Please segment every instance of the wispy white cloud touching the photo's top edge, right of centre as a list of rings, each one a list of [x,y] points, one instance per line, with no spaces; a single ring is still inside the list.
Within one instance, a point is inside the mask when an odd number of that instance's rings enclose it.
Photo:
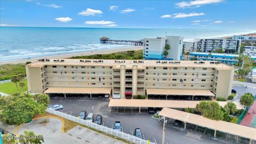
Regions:
[[[200,7],[201,5],[220,3],[222,1],[223,0],[195,0],[195,1],[189,1],[189,2],[183,1],[180,3],[175,3],[175,5],[180,8]]]

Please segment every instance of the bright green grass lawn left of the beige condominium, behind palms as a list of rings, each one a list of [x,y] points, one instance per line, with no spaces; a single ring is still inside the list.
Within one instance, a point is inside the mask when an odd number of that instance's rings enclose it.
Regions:
[[[24,91],[27,91],[28,90],[27,79],[23,79],[22,82],[25,83]],[[19,83],[17,84],[18,84],[19,92],[22,92],[21,88],[19,87]],[[9,82],[9,83],[0,84],[0,92],[6,93],[6,94],[12,94],[14,92],[17,92],[15,83]]]

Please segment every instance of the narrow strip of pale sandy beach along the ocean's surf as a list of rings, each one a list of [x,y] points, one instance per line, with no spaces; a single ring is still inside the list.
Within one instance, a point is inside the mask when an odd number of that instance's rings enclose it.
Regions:
[[[26,63],[27,61],[35,62],[38,59],[63,59],[63,58],[71,58],[71,57],[84,56],[84,55],[93,55],[93,54],[109,54],[109,53],[122,52],[122,51],[137,51],[137,50],[142,50],[142,49],[143,49],[143,46],[131,46],[131,47],[126,46],[126,47],[120,48],[120,49],[107,49],[107,50],[98,50],[98,51],[93,50],[93,51],[87,51],[87,52],[61,54],[61,55],[51,55],[51,56],[31,58],[31,59],[1,61],[0,65]]]

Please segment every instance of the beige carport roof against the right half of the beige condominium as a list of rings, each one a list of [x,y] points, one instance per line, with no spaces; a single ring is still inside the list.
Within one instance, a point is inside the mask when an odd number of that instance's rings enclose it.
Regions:
[[[147,94],[215,96],[209,90],[146,89]]]

